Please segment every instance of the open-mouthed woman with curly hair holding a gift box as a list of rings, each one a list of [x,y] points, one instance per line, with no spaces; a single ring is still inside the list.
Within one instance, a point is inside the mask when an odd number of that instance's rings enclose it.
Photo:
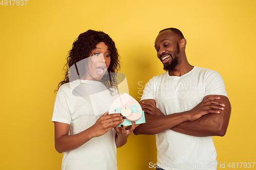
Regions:
[[[125,117],[108,114],[118,98],[119,55],[108,34],[88,30],[74,41],[59,83],[52,122],[62,169],[117,169],[116,148],[135,129],[117,128]],[[103,115],[102,115],[103,114]]]

